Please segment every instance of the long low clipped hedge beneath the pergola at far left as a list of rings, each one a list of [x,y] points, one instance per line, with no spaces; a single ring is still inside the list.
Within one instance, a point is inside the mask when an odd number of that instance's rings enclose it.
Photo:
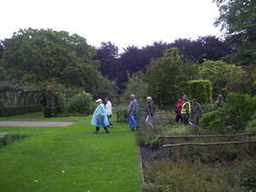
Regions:
[[[17,116],[26,113],[34,113],[43,111],[44,107],[42,104],[29,104],[11,107],[0,107],[0,117],[4,116]]]

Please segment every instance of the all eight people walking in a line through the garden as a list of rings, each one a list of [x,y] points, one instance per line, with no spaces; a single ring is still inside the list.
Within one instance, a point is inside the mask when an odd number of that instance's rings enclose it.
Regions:
[[[102,99],[97,99],[96,103],[98,104],[90,124],[96,126],[96,131],[94,133],[98,133],[100,130],[100,127],[103,127],[106,131],[106,133],[109,133],[108,127],[113,127],[113,123],[109,120],[110,117],[112,117],[112,104],[108,97],[105,98],[106,106],[102,104]],[[215,102],[218,106],[223,106],[224,104],[224,98],[220,94],[218,95],[218,100]],[[148,123],[149,127],[153,128],[152,119],[154,116],[154,101],[151,97],[147,97],[146,102],[146,123]],[[187,95],[183,95],[183,97],[178,98],[178,102],[176,105],[176,124],[178,124],[179,121],[182,122],[184,126],[187,124],[190,124],[194,127],[197,127],[199,125],[199,117],[203,114],[203,110],[201,108],[201,104],[197,102],[196,99],[193,99],[193,103],[190,103],[189,97]],[[189,121],[189,117],[194,117],[194,122]],[[131,131],[134,131],[138,128],[137,125],[137,99],[135,99],[135,95],[131,94],[131,102],[129,105],[129,123],[130,123],[130,129]]]

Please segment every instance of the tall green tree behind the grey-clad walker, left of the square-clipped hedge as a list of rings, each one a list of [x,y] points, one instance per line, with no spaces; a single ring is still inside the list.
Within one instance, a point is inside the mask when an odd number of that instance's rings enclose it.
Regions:
[[[145,78],[148,94],[160,107],[172,106],[183,92],[184,83],[189,80],[183,75],[183,56],[177,48],[164,51],[164,56],[151,59]]]

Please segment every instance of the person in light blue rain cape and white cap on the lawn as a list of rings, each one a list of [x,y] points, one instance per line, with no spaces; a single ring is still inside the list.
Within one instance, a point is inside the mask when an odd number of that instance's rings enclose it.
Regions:
[[[108,132],[109,123],[108,123],[108,116],[105,110],[105,105],[102,104],[102,99],[97,99],[96,103],[99,105],[94,111],[90,124],[96,126],[96,131],[94,133],[98,133],[98,131],[100,131],[100,127],[103,127],[106,133],[109,133]]]

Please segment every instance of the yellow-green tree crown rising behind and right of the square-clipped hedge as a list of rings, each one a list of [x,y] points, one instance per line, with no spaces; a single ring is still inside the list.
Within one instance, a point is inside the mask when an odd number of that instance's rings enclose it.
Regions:
[[[199,74],[201,79],[212,82],[212,93],[215,98],[220,93],[224,94],[227,83],[241,82],[245,71],[241,66],[228,65],[224,61],[205,60],[200,66]]]

